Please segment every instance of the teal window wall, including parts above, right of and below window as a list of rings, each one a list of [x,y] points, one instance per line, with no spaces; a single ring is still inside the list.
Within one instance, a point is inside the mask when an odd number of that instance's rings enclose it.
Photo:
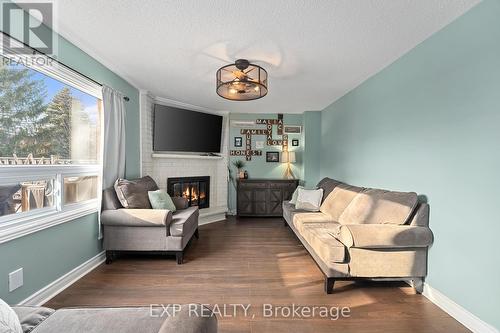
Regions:
[[[139,165],[139,91],[105,66],[58,38],[58,60],[90,78],[121,91],[126,102],[126,176],[136,177]],[[96,214],[0,244],[0,298],[17,303],[102,251]],[[8,273],[24,268],[24,286],[8,292]]]

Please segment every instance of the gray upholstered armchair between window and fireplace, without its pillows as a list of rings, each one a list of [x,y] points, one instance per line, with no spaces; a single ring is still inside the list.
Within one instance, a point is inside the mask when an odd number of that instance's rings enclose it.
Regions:
[[[176,212],[165,209],[123,208],[114,188],[103,191],[101,223],[106,263],[118,252],[146,251],[175,254],[182,264],[184,249],[199,237],[198,207],[187,207],[184,198],[172,198]]]

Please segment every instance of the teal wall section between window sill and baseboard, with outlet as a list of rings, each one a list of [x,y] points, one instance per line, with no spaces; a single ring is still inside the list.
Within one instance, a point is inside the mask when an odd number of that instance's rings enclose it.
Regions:
[[[16,304],[101,252],[97,214],[0,245],[0,298]],[[24,285],[9,293],[8,274],[20,267]]]

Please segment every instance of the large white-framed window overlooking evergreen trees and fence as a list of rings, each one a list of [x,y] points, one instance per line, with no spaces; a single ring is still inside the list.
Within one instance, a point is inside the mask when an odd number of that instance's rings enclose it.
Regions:
[[[101,87],[23,57],[0,58],[0,242],[99,209]]]

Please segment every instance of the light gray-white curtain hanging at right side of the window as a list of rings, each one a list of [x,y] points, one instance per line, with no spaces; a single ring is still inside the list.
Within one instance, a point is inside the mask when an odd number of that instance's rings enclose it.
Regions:
[[[102,87],[104,109],[104,157],[102,186],[113,186],[125,176],[125,103],[123,94]]]

